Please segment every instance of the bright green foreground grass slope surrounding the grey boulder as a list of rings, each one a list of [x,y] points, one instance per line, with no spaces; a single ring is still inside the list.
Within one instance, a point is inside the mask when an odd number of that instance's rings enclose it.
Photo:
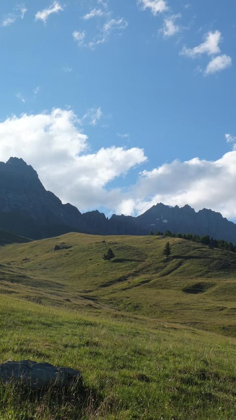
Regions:
[[[47,395],[20,395],[13,403],[12,390],[0,388],[2,419],[235,418],[232,338],[124,314],[94,318],[31,302],[23,309],[8,297],[0,319],[1,361],[71,366],[82,372],[87,396],[54,404]]]

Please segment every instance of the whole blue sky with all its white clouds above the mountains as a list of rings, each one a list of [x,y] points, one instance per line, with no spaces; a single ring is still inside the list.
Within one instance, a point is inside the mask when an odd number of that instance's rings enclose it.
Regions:
[[[80,211],[236,221],[236,3],[0,2],[0,161]]]

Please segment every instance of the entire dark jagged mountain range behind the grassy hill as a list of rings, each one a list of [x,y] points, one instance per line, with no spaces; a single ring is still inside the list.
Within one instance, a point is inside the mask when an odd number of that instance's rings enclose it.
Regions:
[[[0,229],[32,239],[57,236],[70,231],[102,235],[146,235],[152,230],[210,235],[236,244],[236,225],[220,213],[195,212],[162,203],[138,217],[99,211],[82,214],[71,204],[46,191],[37,172],[22,159],[0,162]]]

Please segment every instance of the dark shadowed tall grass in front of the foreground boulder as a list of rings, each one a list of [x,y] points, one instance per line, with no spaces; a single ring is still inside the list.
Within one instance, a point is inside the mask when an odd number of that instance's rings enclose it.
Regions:
[[[0,419],[92,419],[101,413],[104,403],[100,392],[76,381],[69,387],[53,384],[36,391],[20,381],[0,382]]]

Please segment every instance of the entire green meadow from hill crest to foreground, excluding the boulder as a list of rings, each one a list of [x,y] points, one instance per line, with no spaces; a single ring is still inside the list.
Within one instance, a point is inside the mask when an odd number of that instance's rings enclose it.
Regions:
[[[236,418],[236,254],[163,236],[20,242],[0,247],[0,361],[70,366],[85,392],[1,385],[0,419]]]

